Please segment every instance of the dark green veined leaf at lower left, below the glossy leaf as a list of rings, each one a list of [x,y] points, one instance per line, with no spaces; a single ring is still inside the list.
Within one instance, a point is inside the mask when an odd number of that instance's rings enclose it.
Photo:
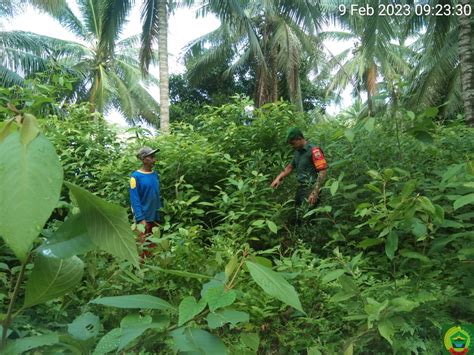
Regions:
[[[81,281],[84,263],[77,256],[69,259],[38,254],[25,290],[25,307],[60,297]]]

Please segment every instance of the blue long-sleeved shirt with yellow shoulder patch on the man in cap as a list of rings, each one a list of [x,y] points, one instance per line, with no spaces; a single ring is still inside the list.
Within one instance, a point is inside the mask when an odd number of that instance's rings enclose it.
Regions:
[[[156,171],[144,173],[134,171],[130,176],[130,203],[135,221],[153,222],[160,220],[160,178]]]

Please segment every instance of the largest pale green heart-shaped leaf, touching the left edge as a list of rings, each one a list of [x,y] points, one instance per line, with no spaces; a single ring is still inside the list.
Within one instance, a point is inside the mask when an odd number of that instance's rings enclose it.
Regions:
[[[19,132],[6,137],[0,144],[0,181],[0,235],[25,262],[61,192],[63,171],[51,142],[40,134],[25,147]]]

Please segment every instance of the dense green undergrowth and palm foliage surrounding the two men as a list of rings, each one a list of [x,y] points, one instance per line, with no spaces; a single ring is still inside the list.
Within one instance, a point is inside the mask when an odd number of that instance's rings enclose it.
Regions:
[[[146,2],[148,10],[157,3]],[[187,72],[171,77],[170,130],[155,136],[141,127],[119,131],[98,104],[133,106],[131,122],[159,121],[157,110],[146,111],[154,105],[146,95],[132,105],[119,98],[120,85],[107,86],[124,75],[131,97],[141,85],[139,50],[121,50],[118,36],[131,2],[81,3],[81,21],[57,4],[56,18],[88,31],[94,50],[0,34],[2,354],[434,354],[445,324],[472,322],[465,18],[373,22],[336,16],[331,1],[209,1],[203,11],[222,22],[209,42],[216,47],[194,47]],[[21,11],[1,6],[3,14]],[[347,32],[318,32],[328,18]],[[447,26],[440,38],[434,20]],[[235,61],[239,46],[220,41],[230,37],[213,37],[225,28],[247,46],[245,60]],[[407,45],[410,32],[402,30],[420,28],[426,32]],[[301,41],[295,61],[285,61],[293,44],[279,42],[282,31]],[[324,36],[357,38],[353,56],[326,62],[319,44],[303,51],[304,41]],[[446,61],[420,58],[425,49]],[[151,45],[147,51],[154,55]],[[210,59],[213,70],[198,69]],[[226,71],[233,75],[222,78]],[[352,107],[326,114],[333,89],[346,81],[370,95],[357,93]],[[102,84],[110,96],[97,96]],[[265,100],[250,99],[255,92]],[[294,208],[294,176],[270,188],[291,159],[290,126],[320,145],[329,163],[315,207]],[[129,208],[128,177],[144,145],[160,148],[164,208],[152,256],[140,260],[147,245],[135,242],[141,227]]]

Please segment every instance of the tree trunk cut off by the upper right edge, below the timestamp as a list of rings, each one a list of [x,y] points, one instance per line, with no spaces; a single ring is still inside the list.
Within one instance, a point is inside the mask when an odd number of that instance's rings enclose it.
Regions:
[[[471,5],[471,0],[461,0],[462,5]],[[467,15],[459,16],[459,61],[461,63],[461,86],[466,124],[474,126],[474,31]]]

